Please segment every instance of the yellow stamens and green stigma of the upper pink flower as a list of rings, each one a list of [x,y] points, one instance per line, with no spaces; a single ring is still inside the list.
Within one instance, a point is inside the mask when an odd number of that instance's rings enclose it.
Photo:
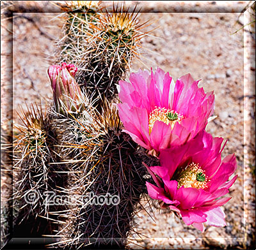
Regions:
[[[156,107],[149,115],[149,119],[148,119],[149,135],[152,132],[154,123],[156,121],[164,122],[165,124],[172,126],[172,129],[173,129],[175,122],[180,123],[182,119],[184,119],[183,115],[180,115],[179,113],[173,110]]]

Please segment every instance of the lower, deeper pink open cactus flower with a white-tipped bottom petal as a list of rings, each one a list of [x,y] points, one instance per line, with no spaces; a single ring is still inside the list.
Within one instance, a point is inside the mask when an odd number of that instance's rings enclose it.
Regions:
[[[225,226],[220,206],[237,175],[229,180],[237,167],[234,154],[221,161],[223,138],[200,132],[189,143],[160,152],[161,166],[148,167],[157,186],[147,182],[148,195],[163,207],[177,212],[187,225],[204,232],[204,224]]]

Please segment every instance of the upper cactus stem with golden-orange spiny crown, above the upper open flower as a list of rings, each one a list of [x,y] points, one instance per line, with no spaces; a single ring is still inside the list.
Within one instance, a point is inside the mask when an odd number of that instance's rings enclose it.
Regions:
[[[131,68],[134,55],[138,55],[140,39],[145,35],[140,32],[138,13],[123,5],[113,8],[111,13],[100,13],[98,32],[88,40],[88,59],[78,67],[78,81],[86,87],[89,96],[99,96],[97,105],[102,99],[115,98],[116,84],[125,77],[125,72]]]

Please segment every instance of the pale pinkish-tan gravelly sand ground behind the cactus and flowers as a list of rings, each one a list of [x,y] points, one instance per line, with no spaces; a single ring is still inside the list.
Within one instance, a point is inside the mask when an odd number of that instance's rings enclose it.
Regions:
[[[2,6],[8,2],[3,1]],[[47,11],[51,4],[46,2],[31,1],[20,4],[23,4],[24,10],[39,6]],[[156,69],[159,66],[168,71],[174,80],[191,73],[193,78],[202,79],[200,86],[204,87],[205,91],[214,91],[214,115],[217,115],[217,118],[207,125],[207,131],[213,136],[228,139],[223,156],[236,154],[238,178],[228,194],[232,199],[223,206],[227,221],[225,228],[207,227],[202,234],[195,228],[186,226],[172,214],[160,213],[158,210],[153,213],[149,210],[153,220],[145,211],[141,211],[136,217],[138,228],[135,230],[144,233],[147,238],[137,239],[136,234],[132,235],[129,244],[131,248],[246,249],[255,242],[255,174],[252,174],[252,168],[255,169],[255,62],[251,62],[253,57],[255,59],[255,40],[253,34],[248,31],[241,30],[232,34],[241,27],[241,24],[237,23],[239,11],[248,3],[249,1],[158,1],[157,7],[152,1],[138,3],[145,11],[157,12],[159,8],[163,13],[141,13],[141,22],[152,20],[152,24],[145,31],[154,31],[143,38],[143,57],[134,59],[132,71],[139,68]],[[134,4],[134,1],[130,4]],[[184,10],[191,10],[191,13],[181,13]],[[198,10],[202,10],[202,13],[196,13]],[[223,10],[229,10],[230,13],[221,13]],[[13,40],[12,36],[8,36],[12,29],[10,22],[1,22],[1,27],[4,27],[1,31],[3,128],[8,128],[11,112],[14,123],[20,122],[17,113],[20,113],[20,107],[25,107],[25,103],[29,105],[40,99],[47,103],[52,98],[47,77],[50,64],[46,58],[54,60],[51,55],[56,50],[54,40],[60,34],[60,28],[56,24],[59,24],[60,20],[51,19],[58,13],[26,12],[17,13],[13,17]],[[242,15],[240,22],[246,22],[244,18],[248,20],[250,15]],[[13,50],[6,46],[12,41]],[[10,77],[11,54],[13,79]],[[7,63],[4,63],[4,60]],[[10,84],[11,79],[13,85]],[[10,105],[12,90],[13,110]],[[6,182],[6,175],[1,174],[1,180],[2,183]]]

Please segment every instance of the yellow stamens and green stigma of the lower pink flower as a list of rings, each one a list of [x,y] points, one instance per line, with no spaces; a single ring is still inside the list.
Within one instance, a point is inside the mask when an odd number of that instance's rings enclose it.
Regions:
[[[197,189],[204,189],[207,187],[207,183],[210,181],[205,176],[205,171],[200,168],[198,164],[191,163],[186,166],[180,174],[178,180],[178,188],[184,187],[195,187]]]

